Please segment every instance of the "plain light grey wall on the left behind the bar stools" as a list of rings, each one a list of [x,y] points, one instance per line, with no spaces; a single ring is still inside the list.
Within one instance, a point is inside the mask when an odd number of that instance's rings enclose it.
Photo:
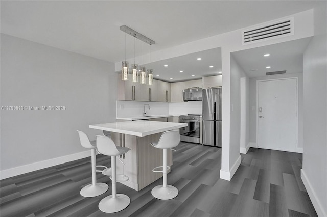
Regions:
[[[1,110],[1,178],[87,156],[76,130],[115,120],[114,64],[4,34],[1,58],[1,106],[66,107]]]

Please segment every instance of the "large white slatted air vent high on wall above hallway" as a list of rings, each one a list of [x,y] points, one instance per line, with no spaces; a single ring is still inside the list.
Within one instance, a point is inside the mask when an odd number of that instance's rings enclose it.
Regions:
[[[242,45],[294,35],[294,19],[289,17],[242,31]]]

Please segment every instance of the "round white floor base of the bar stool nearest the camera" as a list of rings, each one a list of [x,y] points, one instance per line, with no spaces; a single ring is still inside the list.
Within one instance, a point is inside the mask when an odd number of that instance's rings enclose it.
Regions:
[[[131,202],[127,195],[117,194],[113,199],[112,195],[103,198],[99,203],[99,209],[106,213],[119,212],[125,209]]]

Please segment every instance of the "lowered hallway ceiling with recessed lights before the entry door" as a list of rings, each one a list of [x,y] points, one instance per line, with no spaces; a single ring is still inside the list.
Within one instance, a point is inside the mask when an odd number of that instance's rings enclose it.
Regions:
[[[233,52],[238,64],[248,77],[266,76],[266,72],[286,70],[286,73],[302,73],[303,52],[308,46],[310,38],[303,38],[263,47]],[[270,56],[264,57],[269,53]],[[266,68],[270,66],[271,68]]]

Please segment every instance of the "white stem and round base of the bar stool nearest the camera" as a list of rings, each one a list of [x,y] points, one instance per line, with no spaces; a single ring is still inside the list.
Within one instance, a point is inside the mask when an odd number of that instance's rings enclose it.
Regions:
[[[103,198],[99,203],[99,209],[106,213],[122,211],[131,202],[127,195],[117,194],[116,156],[111,156],[111,169],[112,195]]]

